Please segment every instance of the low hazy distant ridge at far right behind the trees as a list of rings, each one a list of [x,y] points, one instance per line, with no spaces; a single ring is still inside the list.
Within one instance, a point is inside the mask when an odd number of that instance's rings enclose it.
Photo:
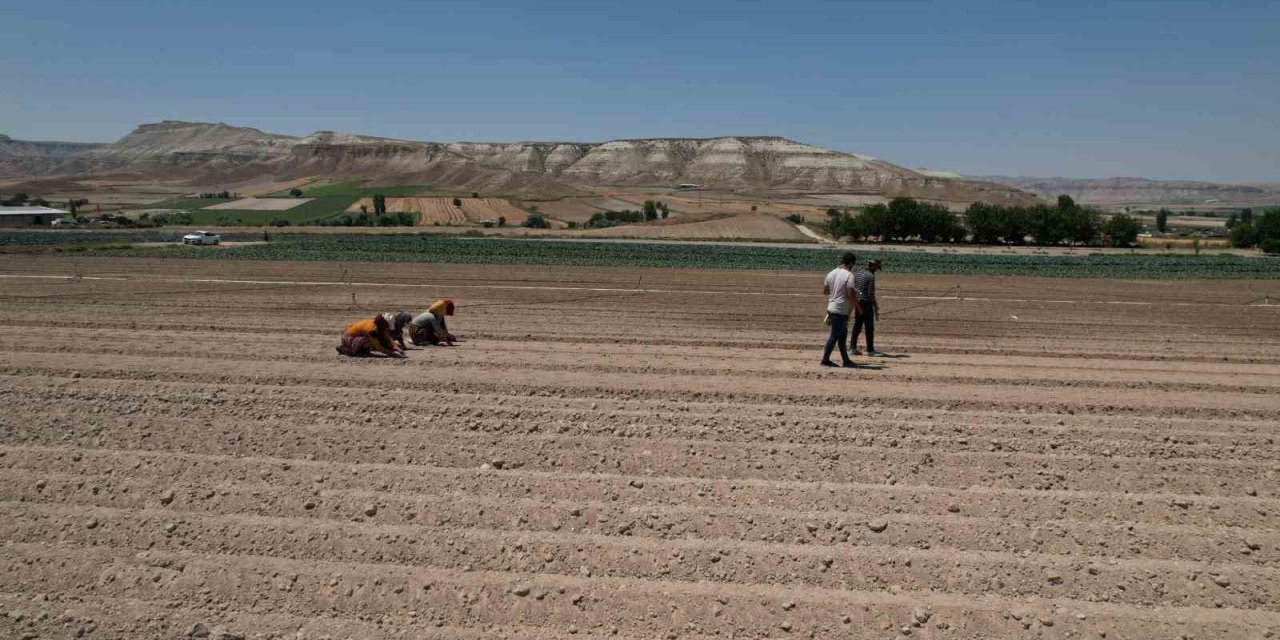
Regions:
[[[1147,178],[974,178],[1029,191],[1052,200],[1066,193],[1076,202],[1098,206],[1265,206],[1280,205],[1280,183],[1220,184]]]

